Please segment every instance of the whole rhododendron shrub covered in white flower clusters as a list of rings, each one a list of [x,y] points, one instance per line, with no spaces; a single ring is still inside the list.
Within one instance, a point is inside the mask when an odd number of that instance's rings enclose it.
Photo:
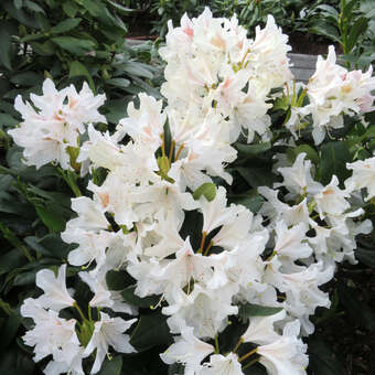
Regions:
[[[322,287],[372,232],[374,157],[358,139],[372,135],[375,78],[330,47],[296,84],[290,50],[272,17],[249,40],[206,9],[169,24],[164,100],[140,94],[113,132],[96,130],[105,97],[87,85],[46,79],[15,99],[24,162],[58,164],[76,193],[68,267],[40,270],[43,293],[21,307],[45,374],[96,374],[106,356],[153,346],[171,374],[307,374],[312,317],[331,306]]]

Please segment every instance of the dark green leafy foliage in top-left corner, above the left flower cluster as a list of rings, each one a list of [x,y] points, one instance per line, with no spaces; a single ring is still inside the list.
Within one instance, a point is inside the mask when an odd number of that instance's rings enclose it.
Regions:
[[[7,0],[0,9],[1,128],[18,124],[15,96],[40,93],[45,77],[58,87],[87,81],[95,93],[106,93],[110,124],[139,92],[159,95],[151,49],[125,44],[122,19],[131,9],[108,0]]]

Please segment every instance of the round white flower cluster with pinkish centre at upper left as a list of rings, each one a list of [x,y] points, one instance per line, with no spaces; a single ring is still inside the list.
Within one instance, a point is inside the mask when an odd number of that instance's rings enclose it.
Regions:
[[[45,79],[43,95],[31,94],[30,98],[33,105],[24,104],[20,95],[15,98],[14,108],[23,122],[9,131],[15,143],[24,148],[25,164],[40,168],[57,162],[63,169],[72,169],[69,149],[79,147],[85,125],[107,122],[97,110],[105,95],[94,96],[86,83],[79,93],[73,85],[57,92],[53,82]]]

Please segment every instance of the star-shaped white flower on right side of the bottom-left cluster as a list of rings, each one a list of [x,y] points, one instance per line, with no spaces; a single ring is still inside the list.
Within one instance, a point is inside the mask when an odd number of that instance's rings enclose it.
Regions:
[[[94,333],[84,353],[85,356],[88,356],[96,350],[92,374],[96,374],[100,369],[109,346],[120,353],[136,352],[129,343],[129,335],[124,334],[136,321],[137,319],[126,321],[121,318],[110,318],[100,312],[100,321],[94,324]]]

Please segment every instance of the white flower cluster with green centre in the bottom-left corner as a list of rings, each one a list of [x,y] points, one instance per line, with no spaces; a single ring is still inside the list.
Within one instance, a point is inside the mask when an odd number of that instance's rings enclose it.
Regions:
[[[92,373],[95,374],[100,369],[109,345],[120,353],[135,352],[135,349],[129,344],[129,336],[124,332],[136,322],[136,319],[125,321],[118,317],[110,318],[105,312],[99,312],[99,320],[96,322],[90,314],[89,319],[86,319],[66,289],[65,274],[66,265],[58,269],[57,277],[49,269],[38,272],[36,286],[44,293],[38,299],[25,299],[21,307],[21,314],[32,318],[35,323],[23,340],[26,345],[34,346],[35,362],[52,355],[53,360],[44,368],[46,375],[65,373],[84,375],[82,361],[96,350],[92,369]],[[85,277],[83,279],[85,280]],[[106,307],[100,302],[95,306]],[[90,301],[88,309],[93,306]],[[69,307],[78,309],[83,321],[60,318],[61,310]],[[76,330],[77,324],[79,325],[78,330]]]

